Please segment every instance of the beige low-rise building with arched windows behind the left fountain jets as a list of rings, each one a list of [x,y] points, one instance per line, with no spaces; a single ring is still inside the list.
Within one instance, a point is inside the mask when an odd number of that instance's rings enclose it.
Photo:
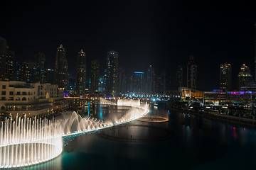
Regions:
[[[1,113],[10,116],[47,116],[55,110],[55,101],[64,103],[63,90],[55,84],[28,84],[24,81],[0,81]],[[58,105],[58,104],[56,104]],[[63,108],[63,107],[61,107]]]

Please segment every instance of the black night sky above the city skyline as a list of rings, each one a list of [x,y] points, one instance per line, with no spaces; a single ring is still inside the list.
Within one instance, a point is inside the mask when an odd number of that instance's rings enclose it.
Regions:
[[[219,88],[221,63],[232,64],[234,84],[242,63],[252,73],[255,6],[234,1],[18,1],[0,10],[0,36],[6,38],[16,60],[46,55],[54,68],[55,52],[65,47],[68,69],[83,49],[87,62],[99,59],[105,67],[107,51],[119,52],[119,67],[127,75],[152,64],[159,74],[186,72],[189,55],[198,64],[198,89]],[[89,64],[88,64],[89,65]]]

